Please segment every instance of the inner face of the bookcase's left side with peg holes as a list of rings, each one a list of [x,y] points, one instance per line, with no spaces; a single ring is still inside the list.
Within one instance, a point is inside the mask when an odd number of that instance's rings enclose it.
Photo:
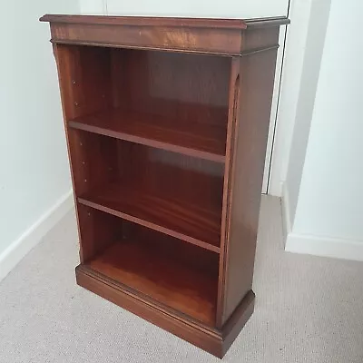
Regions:
[[[81,81],[81,77],[79,77],[77,84],[74,78],[76,68],[80,67],[80,64],[76,64],[79,51],[77,47],[62,44],[53,44],[53,49],[57,64],[64,113],[64,131],[74,190],[74,205],[80,238],[80,260],[83,262],[92,258],[99,250],[103,250],[113,240],[111,232],[115,231],[113,226],[116,219],[109,218],[103,222],[97,212],[80,206],[77,203],[77,196],[91,191],[98,184],[113,177],[113,166],[116,162],[115,143],[107,142],[106,138],[98,137],[92,133],[68,129],[67,119],[89,112],[87,104],[92,104],[92,107],[103,108],[108,100],[106,97],[100,97],[100,103],[85,102],[83,106],[78,104],[75,100],[80,99],[83,86],[86,86],[87,83],[85,79]],[[83,94],[82,97],[87,98],[93,93],[93,90],[88,88],[85,93],[87,94]]]

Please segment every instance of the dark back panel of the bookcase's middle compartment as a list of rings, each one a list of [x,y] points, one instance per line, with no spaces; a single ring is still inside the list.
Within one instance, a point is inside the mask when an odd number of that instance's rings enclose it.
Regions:
[[[223,164],[132,142],[118,141],[117,148],[121,181],[221,213]]]

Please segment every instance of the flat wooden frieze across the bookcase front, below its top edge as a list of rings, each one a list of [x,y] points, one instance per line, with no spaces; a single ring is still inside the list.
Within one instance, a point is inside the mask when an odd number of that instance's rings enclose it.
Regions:
[[[235,29],[211,28],[185,30],[164,26],[132,25],[79,25],[54,23],[51,29],[54,44],[103,45],[134,49],[162,50],[167,52],[239,54],[241,34]]]

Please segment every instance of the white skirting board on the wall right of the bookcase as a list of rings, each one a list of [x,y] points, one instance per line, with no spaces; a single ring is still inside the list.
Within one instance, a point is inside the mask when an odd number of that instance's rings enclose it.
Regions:
[[[289,191],[282,187],[282,220],[285,250],[314,256],[363,261],[363,240],[335,239],[324,236],[294,233],[289,221]]]

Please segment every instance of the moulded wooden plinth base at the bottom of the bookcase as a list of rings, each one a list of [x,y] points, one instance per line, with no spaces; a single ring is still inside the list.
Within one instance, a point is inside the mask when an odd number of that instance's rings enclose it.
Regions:
[[[218,358],[223,358],[228,348],[231,347],[254,308],[254,294],[249,291],[240,301],[239,307],[234,311],[227,324],[221,330],[213,329],[187,315],[181,315],[176,310],[165,309],[155,300],[143,299],[140,294],[127,289],[117,281],[104,278],[102,274],[85,264],[77,266],[75,274],[78,285],[83,288],[93,291],[104,299],[170,331],[177,337],[189,341]]]

